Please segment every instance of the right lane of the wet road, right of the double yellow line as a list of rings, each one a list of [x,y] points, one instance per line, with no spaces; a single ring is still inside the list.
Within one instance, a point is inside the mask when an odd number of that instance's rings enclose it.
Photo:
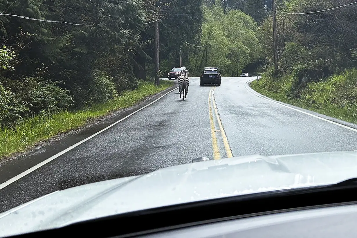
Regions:
[[[259,95],[248,86],[253,80],[222,77],[222,85],[214,92],[233,156],[357,149],[357,125]]]

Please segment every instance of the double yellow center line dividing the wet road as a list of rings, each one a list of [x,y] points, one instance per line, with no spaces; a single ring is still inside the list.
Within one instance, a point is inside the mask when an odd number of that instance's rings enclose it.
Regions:
[[[217,105],[216,105],[215,96],[214,96],[215,88],[216,87],[212,87],[210,92],[208,93],[208,109],[209,109],[209,112],[210,112],[213,158],[214,159],[221,159],[220,150],[219,150],[219,147],[218,147],[217,137],[216,137],[217,130],[216,130],[215,122],[213,120],[212,105],[213,105],[213,109],[215,110],[216,119],[217,119],[217,122],[218,122],[218,126],[220,128],[220,132],[221,132],[221,136],[222,136],[222,140],[223,140],[223,145],[225,147],[225,150],[226,150],[226,153],[227,153],[227,157],[228,158],[232,158],[233,157],[232,150],[231,150],[231,148],[229,146],[228,139],[227,139],[226,133],[225,133],[225,131],[223,129],[222,122],[221,122],[221,119],[220,119],[220,116],[219,116],[218,110],[217,110]]]

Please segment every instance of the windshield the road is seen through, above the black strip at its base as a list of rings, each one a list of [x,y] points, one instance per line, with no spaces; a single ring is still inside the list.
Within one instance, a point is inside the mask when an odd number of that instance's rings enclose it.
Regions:
[[[11,215],[30,229],[88,197],[120,212],[357,177],[357,3],[273,2],[2,1],[0,212],[48,196]]]

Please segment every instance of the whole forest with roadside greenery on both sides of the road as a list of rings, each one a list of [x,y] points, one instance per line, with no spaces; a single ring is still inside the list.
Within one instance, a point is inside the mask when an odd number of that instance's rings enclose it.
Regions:
[[[170,87],[153,84],[156,20],[161,77],[182,48],[191,76],[259,73],[256,91],[356,122],[357,4],[276,0],[276,12],[277,72],[271,0],[1,1],[0,143],[28,145]]]

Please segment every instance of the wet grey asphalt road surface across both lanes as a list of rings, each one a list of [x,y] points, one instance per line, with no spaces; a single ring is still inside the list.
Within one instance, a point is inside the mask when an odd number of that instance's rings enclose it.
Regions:
[[[245,87],[249,79],[223,77],[221,86],[212,89],[233,156],[357,149],[356,132],[258,97]],[[2,188],[0,212],[56,190],[148,173],[201,156],[213,158],[208,110],[212,87],[200,87],[198,78],[190,80],[185,101],[175,90]],[[224,158],[227,153],[212,112],[216,149]]]

